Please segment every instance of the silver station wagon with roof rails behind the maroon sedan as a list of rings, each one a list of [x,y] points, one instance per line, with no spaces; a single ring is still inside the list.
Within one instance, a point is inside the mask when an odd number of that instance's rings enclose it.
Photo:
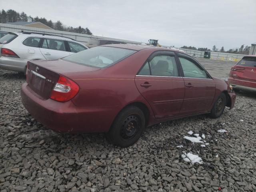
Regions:
[[[62,36],[15,32],[0,38],[0,49],[0,68],[26,73],[29,60],[58,59],[88,48]]]

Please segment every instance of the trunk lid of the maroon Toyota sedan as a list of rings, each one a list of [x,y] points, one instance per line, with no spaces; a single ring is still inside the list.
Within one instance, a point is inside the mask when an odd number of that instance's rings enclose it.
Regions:
[[[59,74],[66,76],[71,73],[92,72],[96,70],[99,70],[99,68],[83,66],[61,59],[29,61],[26,78],[28,86],[41,99],[46,100],[50,98],[52,89],[58,81]]]

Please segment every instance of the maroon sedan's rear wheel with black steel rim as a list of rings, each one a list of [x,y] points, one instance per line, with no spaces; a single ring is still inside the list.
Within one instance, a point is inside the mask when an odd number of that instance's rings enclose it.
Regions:
[[[136,106],[124,108],[114,120],[106,137],[113,144],[129,147],[137,142],[145,128],[145,116]]]

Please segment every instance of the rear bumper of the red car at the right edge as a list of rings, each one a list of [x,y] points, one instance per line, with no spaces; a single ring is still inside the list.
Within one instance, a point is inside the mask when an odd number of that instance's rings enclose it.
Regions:
[[[245,91],[256,91],[256,82],[228,78],[228,83],[232,85],[234,89],[245,90]]]

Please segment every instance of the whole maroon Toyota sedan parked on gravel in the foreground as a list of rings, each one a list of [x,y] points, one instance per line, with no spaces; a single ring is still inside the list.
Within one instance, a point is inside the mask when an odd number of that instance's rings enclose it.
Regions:
[[[113,44],[58,60],[30,61],[25,108],[58,132],[106,132],[134,144],[146,126],[177,118],[222,115],[236,94],[191,56],[172,49]]]

